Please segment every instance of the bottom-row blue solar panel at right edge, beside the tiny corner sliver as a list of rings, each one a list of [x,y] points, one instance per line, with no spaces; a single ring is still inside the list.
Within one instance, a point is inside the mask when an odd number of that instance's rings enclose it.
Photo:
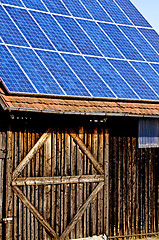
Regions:
[[[151,68],[151,66],[148,63],[141,62],[132,62],[132,65],[159,95],[159,75]]]

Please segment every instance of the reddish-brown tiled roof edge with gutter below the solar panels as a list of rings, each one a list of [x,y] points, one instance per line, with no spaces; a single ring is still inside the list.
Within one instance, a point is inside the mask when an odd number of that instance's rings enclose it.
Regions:
[[[17,95],[0,89],[0,105],[4,111],[159,118],[157,101]]]

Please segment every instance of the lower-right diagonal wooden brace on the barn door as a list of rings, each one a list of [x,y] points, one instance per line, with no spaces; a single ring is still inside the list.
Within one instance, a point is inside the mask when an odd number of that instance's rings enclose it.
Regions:
[[[72,221],[69,223],[65,231],[62,233],[60,236],[60,239],[64,239],[65,236],[72,230],[74,225],[78,222],[79,218],[83,215],[84,211],[88,207],[88,205],[91,203],[91,201],[94,199],[94,197],[97,195],[97,193],[102,189],[104,183],[100,182],[97,187],[93,190],[93,192],[90,194],[89,198],[87,201],[81,206],[81,208],[78,210]]]

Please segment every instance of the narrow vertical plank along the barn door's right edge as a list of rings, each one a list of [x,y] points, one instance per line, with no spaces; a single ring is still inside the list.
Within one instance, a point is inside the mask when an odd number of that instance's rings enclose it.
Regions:
[[[109,133],[104,129],[104,231],[109,235]]]

